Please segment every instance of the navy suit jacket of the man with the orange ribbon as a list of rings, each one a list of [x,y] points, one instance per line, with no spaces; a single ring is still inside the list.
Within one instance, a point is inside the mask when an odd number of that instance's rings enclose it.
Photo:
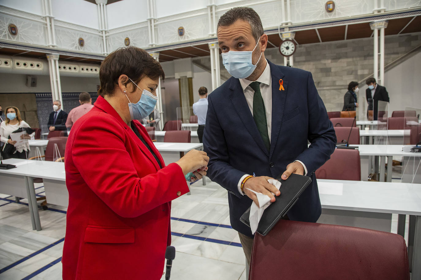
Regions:
[[[270,152],[254,122],[240,81],[231,77],[208,96],[203,147],[210,157],[209,178],[228,190],[232,228],[253,237],[240,221],[252,200],[238,191],[244,174],[281,175],[288,164],[301,160],[312,183],[288,212],[290,220],[316,222],[321,205],[314,171],[333,153],[336,135],[312,74],[270,63],[272,75],[272,136]],[[280,91],[279,80],[285,90]],[[307,139],[311,145],[308,148]],[[281,186],[282,195],[282,186]],[[275,202],[276,203],[276,202]]]

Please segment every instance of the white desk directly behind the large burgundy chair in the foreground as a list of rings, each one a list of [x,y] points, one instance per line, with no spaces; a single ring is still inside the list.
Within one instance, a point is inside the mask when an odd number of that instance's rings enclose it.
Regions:
[[[414,215],[414,238],[408,240],[408,255],[412,279],[421,279],[421,184],[320,179],[317,183],[322,208],[330,209],[328,215],[335,215],[335,210],[339,210],[339,217],[344,216],[340,210],[364,212],[371,220],[376,218],[374,213]],[[322,215],[318,222],[328,220],[328,215]],[[338,219],[333,220],[341,224]],[[399,222],[402,224],[402,220]],[[403,225],[405,228],[405,220]]]

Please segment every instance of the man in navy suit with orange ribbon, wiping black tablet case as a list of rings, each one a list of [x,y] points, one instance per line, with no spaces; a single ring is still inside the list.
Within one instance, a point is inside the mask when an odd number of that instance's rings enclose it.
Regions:
[[[210,157],[209,178],[229,192],[231,225],[249,264],[253,234],[240,217],[252,201],[258,204],[250,190],[274,202],[271,192],[279,196],[280,191],[268,179],[308,175],[312,183],[287,215],[316,222],[321,206],[314,171],[330,158],[336,135],[312,74],[265,59],[268,38],[253,9],[227,11],[219,19],[217,36],[233,77],[208,96],[203,146]]]

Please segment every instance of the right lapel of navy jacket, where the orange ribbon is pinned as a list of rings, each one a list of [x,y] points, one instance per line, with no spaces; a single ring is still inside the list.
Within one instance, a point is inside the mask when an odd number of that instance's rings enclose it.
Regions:
[[[281,130],[282,118],[285,112],[285,100],[288,91],[288,81],[283,80],[284,90],[279,90],[279,80],[284,78],[279,66],[269,62],[270,73],[272,77],[272,135],[270,141],[270,157],[276,146],[279,132]]]

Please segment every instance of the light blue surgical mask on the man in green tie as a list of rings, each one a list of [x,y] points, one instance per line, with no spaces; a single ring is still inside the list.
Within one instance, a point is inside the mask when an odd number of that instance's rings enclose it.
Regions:
[[[236,52],[230,50],[229,52],[224,52],[222,54],[222,63],[224,64],[226,71],[228,71],[231,76],[237,79],[245,79],[253,73],[263,53],[261,52],[256,64],[253,64],[251,61],[253,57],[253,51],[256,49],[259,41],[260,38],[258,39],[257,44],[252,51]]]

